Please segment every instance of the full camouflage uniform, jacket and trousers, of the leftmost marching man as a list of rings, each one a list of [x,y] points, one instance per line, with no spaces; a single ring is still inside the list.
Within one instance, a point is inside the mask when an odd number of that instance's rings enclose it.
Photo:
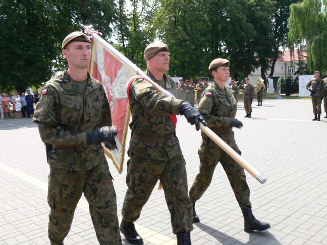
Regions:
[[[111,125],[102,84],[88,74],[81,91],[65,69],[42,89],[33,121],[38,124],[50,165],[48,203],[52,244],[68,234],[84,193],[100,244],[122,244],[112,177],[99,144],[87,145],[85,132]]]

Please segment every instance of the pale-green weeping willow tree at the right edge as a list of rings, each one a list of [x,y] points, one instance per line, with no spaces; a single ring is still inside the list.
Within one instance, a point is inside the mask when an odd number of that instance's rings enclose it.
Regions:
[[[295,45],[306,43],[309,70],[327,67],[327,0],[303,0],[291,5],[289,39]]]

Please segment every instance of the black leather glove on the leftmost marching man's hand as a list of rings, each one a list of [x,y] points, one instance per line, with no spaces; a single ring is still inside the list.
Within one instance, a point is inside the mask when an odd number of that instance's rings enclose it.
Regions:
[[[116,127],[102,127],[86,133],[87,144],[100,144],[106,140],[114,140],[114,136],[117,135]]]

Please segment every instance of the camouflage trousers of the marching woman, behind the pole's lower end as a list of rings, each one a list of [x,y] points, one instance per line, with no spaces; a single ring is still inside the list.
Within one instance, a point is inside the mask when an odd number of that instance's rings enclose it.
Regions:
[[[233,134],[220,135],[220,137],[225,142],[228,142],[228,145],[234,151],[241,155],[241,152],[235,143],[235,139],[233,138]],[[202,142],[198,154],[200,157],[200,171],[190,189],[191,200],[198,201],[202,197],[212,181],[218,162],[220,162],[225,170],[239,206],[242,209],[251,207],[250,189],[246,183],[246,176],[243,167],[241,167],[219,146],[208,146]]]

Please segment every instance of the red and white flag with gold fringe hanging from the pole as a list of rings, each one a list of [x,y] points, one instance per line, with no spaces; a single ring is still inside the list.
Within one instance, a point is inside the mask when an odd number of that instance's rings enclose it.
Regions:
[[[92,77],[103,84],[110,105],[112,125],[118,129],[116,137],[118,148],[105,152],[121,173],[130,115],[126,86],[136,72],[111,53],[103,45],[103,42],[98,41],[99,38],[99,36],[92,38],[92,58],[89,71]]]

